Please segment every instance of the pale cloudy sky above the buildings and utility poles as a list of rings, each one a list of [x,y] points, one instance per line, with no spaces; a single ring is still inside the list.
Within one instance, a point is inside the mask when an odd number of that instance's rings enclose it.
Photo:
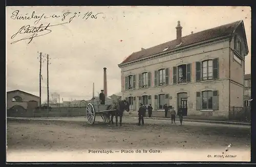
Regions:
[[[33,18],[17,19],[20,16]],[[62,98],[63,101],[91,99],[93,82],[97,96],[103,89],[103,67],[107,68],[108,96],[120,92],[121,69],[117,64],[141,47],[146,49],[174,40],[178,20],[183,27],[182,36],[243,20],[249,48],[245,73],[250,73],[250,7],[6,7],[7,91],[20,89],[39,96],[41,52],[50,58],[49,92],[59,93],[60,102]],[[38,32],[29,33],[33,27]],[[24,39],[33,34],[37,36],[31,41]],[[44,61],[42,102],[46,99],[47,63]]]

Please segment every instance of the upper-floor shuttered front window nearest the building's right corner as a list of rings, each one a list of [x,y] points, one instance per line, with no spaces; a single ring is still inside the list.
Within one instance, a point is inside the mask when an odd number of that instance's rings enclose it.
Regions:
[[[219,78],[219,58],[196,62],[196,82]]]

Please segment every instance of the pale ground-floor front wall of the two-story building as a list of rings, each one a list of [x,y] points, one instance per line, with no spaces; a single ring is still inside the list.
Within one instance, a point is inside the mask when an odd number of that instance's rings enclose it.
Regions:
[[[185,83],[179,85],[169,85],[159,88],[148,88],[142,90],[134,90],[129,92],[124,92],[124,97],[132,96],[136,97],[138,100],[139,96],[151,95],[152,96],[152,106],[155,110],[155,94],[169,94],[169,105],[172,105],[177,110],[177,93],[186,92],[187,93],[187,106],[188,106],[188,116],[190,115],[208,115],[208,116],[219,116],[227,117],[228,116],[228,104],[229,104],[229,80],[218,80],[218,81],[203,81],[200,83]],[[196,92],[205,91],[205,90],[218,90],[219,93],[219,110],[216,111],[198,111],[196,110]],[[145,92],[145,93],[144,93]],[[138,102],[137,102],[137,107]]]

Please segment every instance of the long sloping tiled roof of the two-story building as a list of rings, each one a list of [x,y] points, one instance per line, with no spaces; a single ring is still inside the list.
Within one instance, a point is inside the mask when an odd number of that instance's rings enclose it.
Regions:
[[[155,54],[159,54],[161,52],[167,52],[169,50],[177,49],[178,47],[187,46],[189,44],[194,44],[194,43],[202,42],[205,40],[230,35],[234,32],[234,30],[236,30],[236,28],[239,26],[241,22],[243,21],[239,20],[236,22],[228,23],[226,25],[222,25],[219,27],[215,27],[212,29],[208,29],[208,30],[200,31],[198,33],[184,36],[181,38],[182,43],[178,43],[178,40],[174,39],[172,41],[168,41],[168,42],[150,47],[148,49],[143,49],[139,52],[135,52],[131,54],[119,65],[122,65],[124,63],[131,62],[131,61],[139,60],[142,58],[146,58]],[[165,50],[166,48],[168,49]]]

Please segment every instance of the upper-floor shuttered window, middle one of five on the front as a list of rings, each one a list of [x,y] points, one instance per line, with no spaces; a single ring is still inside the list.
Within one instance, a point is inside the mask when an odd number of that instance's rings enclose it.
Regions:
[[[169,84],[169,68],[156,70],[154,82],[155,82],[155,86],[168,85]]]

